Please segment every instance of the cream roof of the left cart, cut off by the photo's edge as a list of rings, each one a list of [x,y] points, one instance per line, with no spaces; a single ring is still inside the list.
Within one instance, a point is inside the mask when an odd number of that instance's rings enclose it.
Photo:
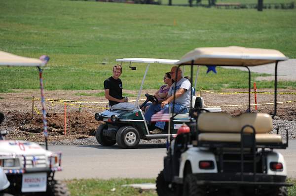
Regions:
[[[0,51],[0,66],[44,66],[46,62]]]

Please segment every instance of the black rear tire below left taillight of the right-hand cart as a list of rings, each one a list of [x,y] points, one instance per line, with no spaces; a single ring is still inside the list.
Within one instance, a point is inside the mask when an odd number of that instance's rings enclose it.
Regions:
[[[199,185],[194,174],[187,174],[184,181],[183,196],[206,196],[207,192]]]

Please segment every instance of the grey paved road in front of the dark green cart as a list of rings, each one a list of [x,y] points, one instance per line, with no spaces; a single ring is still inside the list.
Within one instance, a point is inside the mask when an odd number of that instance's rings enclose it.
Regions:
[[[63,171],[58,179],[73,178],[156,178],[163,168],[165,144],[142,144],[139,149],[120,149],[90,146],[49,146],[52,151],[62,151]],[[296,178],[296,140],[290,140],[289,148],[279,150],[285,157],[288,176]]]

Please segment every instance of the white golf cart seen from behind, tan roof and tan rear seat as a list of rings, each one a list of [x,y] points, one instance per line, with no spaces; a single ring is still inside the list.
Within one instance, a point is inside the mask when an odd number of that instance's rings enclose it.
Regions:
[[[178,130],[164,157],[164,168],[156,179],[159,196],[288,196],[287,168],[283,155],[274,149],[288,147],[272,131],[276,115],[277,66],[288,58],[276,50],[244,47],[196,48],[176,64],[243,66],[249,70],[249,109],[236,117],[197,110],[195,121]],[[275,63],[275,107],[271,117],[251,113],[249,66]]]

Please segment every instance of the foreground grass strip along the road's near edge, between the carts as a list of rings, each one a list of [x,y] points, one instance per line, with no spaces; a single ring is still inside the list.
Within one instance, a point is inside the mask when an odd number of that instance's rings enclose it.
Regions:
[[[296,184],[295,180],[288,180]],[[155,183],[155,179],[111,179],[111,180],[71,180],[67,181],[72,196],[157,196],[156,191],[141,192],[139,189],[122,187],[124,184]],[[296,185],[289,187],[289,196],[296,195]]]

